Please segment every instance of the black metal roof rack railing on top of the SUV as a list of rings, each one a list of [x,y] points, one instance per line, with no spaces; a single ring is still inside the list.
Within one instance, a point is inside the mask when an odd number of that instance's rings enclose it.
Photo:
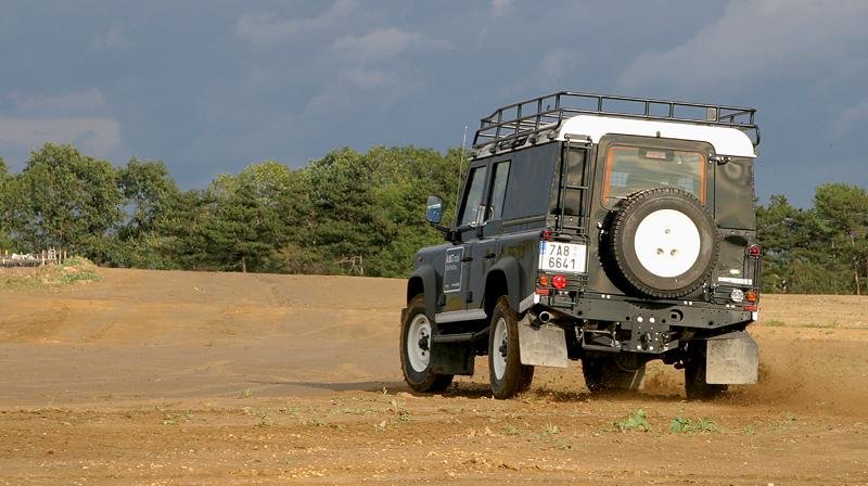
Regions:
[[[527,140],[533,143],[540,132],[583,114],[737,128],[749,136],[753,133],[753,145],[760,144],[760,127],[754,123],[756,108],[559,91],[509,104],[482,118],[473,148],[493,142],[501,148],[520,145]]]

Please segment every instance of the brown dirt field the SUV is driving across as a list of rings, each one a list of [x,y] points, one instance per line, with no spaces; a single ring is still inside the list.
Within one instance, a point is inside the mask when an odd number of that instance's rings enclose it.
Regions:
[[[868,297],[764,296],[761,383],[720,400],[574,364],[501,401],[484,360],[408,393],[401,280],[101,272],[0,291],[0,485],[868,484]]]

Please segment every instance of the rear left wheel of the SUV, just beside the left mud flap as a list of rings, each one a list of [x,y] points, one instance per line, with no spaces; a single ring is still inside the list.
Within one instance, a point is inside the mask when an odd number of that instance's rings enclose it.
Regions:
[[[488,332],[488,371],[495,398],[511,398],[531,387],[534,367],[522,364],[519,355],[519,315],[509,299],[497,299]]]

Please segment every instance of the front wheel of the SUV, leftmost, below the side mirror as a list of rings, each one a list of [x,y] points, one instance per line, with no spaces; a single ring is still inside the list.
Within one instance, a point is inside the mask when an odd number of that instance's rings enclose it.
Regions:
[[[413,333],[413,336],[410,336],[410,333]],[[434,325],[425,316],[424,295],[417,295],[407,305],[407,318],[400,325],[400,368],[404,381],[416,392],[443,392],[452,383],[451,374],[437,374],[431,371],[433,334]],[[423,349],[421,343],[425,337],[424,345],[427,346],[427,350]]]

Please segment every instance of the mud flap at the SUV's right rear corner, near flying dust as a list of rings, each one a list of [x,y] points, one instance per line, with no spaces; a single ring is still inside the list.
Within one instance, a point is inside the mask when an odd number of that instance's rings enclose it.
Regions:
[[[705,382],[720,385],[756,383],[760,350],[746,332],[731,332],[707,340]]]

